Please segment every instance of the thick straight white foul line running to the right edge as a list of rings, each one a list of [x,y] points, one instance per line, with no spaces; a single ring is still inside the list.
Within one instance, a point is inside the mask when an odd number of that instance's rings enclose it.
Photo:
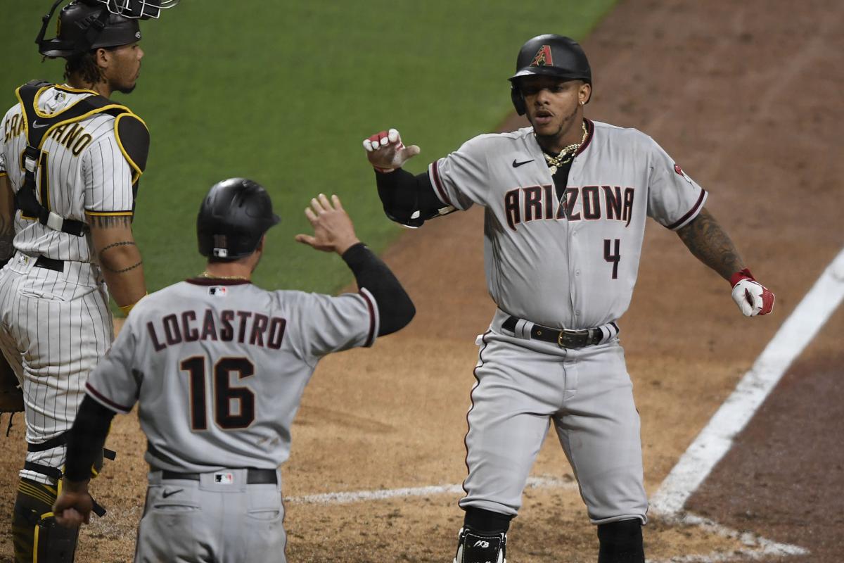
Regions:
[[[793,360],[809,344],[844,298],[844,250],[825,269],[809,293],[738,382],[733,394],[685,451],[653,495],[651,508],[665,517],[682,511],[716,463],[728,452],[733,438],[779,382]]]

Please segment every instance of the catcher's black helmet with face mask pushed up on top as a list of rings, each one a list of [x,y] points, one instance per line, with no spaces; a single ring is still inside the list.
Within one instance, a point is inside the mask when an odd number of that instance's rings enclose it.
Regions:
[[[56,0],[41,20],[35,43],[45,57],[72,57],[91,49],[140,41],[139,19],[158,19],[162,9],[179,3],[179,0],[73,0],[58,15],[56,37],[44,39],[52,14],[64,1]]]

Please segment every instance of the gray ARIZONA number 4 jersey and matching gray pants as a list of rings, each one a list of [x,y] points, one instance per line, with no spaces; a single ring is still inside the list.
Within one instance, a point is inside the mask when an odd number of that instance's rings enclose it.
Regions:
[[[615,321],[630,305],[647,217],[679,229],[706,192],[652,138],[588,121],[565,189],[530,127],[473,138],[428,173],[442,203],[484,206],[498,305],[477,342],[460,505],[517,514],[550,420],[592,522],[646,522],[640,421]],[[535,325],[602,338],[570,349]]]

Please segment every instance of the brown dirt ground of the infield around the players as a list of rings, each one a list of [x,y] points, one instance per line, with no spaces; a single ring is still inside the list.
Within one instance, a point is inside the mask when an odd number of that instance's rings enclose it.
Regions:
[[[649,225],[633,304],[619,324],[651,493],[844,246],[841,29],[836,0],[624,0],[583,42],[595,87],[587,116],[656,138],[710,191],[707,207],[776,293],[773,315],[741,317],[728,284],[673,233]],[[473,342],[494,310],[482,232],[473,209],[403,235],[385,259],[414,298],[414,322],[317,369],[283,470],[289,560],[451,560],[463,517],[457,493],[340,504],[301,497],[462,482]],[[809,549],[792,558],[799,563],[844,555],[844,413],[840,401],[829,403],[841,394],[842,335],[838,311],[688,505],[729,528]],[[24,457],[20,420],[0,442],[0,514],[10,515]],[[80,563],[132,558],[146,469],[133,415],[116,420],[109,446],[118,457],[93,486],[109,514],[84,530]],[[554,486],[526,491],[508,560],[596,560],[594,528],[555,440],[533,475]],[[655,518],[645,539],[651,561],[744,560],[735,555],[740,539],[708,528]],[[11,551],[3,525],[0,561]]]

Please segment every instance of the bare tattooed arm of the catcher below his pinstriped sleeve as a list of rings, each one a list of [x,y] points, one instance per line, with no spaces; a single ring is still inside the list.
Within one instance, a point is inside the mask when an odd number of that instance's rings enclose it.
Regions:
[[[134,305],[146,295],[141,252],[132,234],[129,215],[88,214],[94,252],[118,306]]]

